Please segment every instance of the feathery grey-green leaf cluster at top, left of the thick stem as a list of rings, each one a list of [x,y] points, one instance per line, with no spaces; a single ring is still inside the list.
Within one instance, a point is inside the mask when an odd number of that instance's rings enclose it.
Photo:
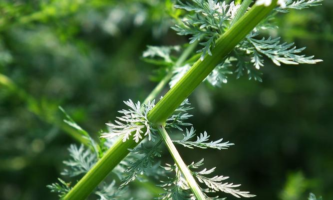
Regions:
[[[212,55],[211,48],[215,46],[215,41],[225,32],[227,21],[231,21],[240,5],[234,2],[226,4],[225,1],[216,0],[193,0],[192,3],[178,1],[176,8],[194,11],[193,15],[188,15],[183,20],[183,24],[176,24],[172,27],[179,35],[191,35],[190,43],[200,40],[204,47],[197,52],[202,52],[201,60],[206,54]]]

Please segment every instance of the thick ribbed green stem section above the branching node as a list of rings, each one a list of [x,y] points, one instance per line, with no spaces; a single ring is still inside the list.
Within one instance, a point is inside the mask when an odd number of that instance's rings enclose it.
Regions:
[[[163,98],[149,112],[148,119],[155,124],[164,124],[165,120],[179,106],[185,98],[207,77],[222,58],[247,35],[253,28],[271,12],[277,5],[273,0],[270,6],[254,5],[240,20],[221,35],[215,47],[213,56],[206,56],[198,60],[190,70],[163,96]]]

